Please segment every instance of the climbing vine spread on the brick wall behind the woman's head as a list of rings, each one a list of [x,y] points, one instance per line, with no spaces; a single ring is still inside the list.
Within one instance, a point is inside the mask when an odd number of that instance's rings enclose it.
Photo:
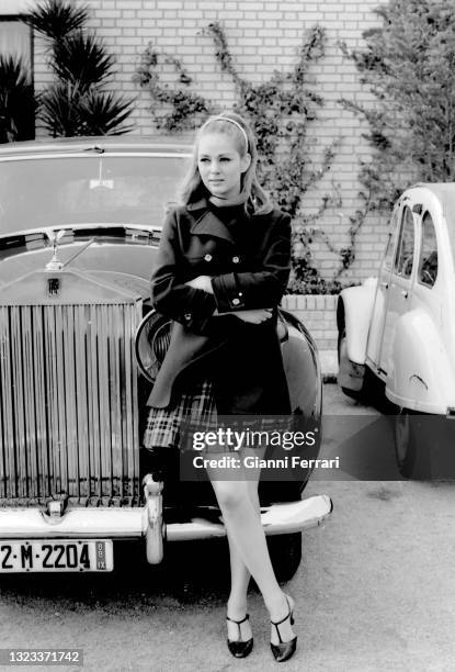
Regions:
[[[315,90],[311,68],[323,57],[325,30],[318,25],[310,29],[294,67],[287,72],[274,70],[261,83],[253,83],[239,74],[218,22],[208,24],[201,34],[213,40],[215,58],[221,71],[228,74],[234,82],[234,111],[248,120],[258,138],[260,181],[278,208],[293,219],[291,291],[339,291],[340,275],[350,266],[354,254],[351,248],[335,249],[318,222],[328,208],[341,205],[340,195],[323,195],[317,212],[311,215],[303,208],[305,194],[326,176],[340,143],[338,138],[323,147],[319,163],[314,161],[316,141],[309,130],[323,107],[323,100]],[[173,87],[161,82],[160,67],[164,65],[174,69]],[[169,54],[158,53],[152,44],[143,54],[135,79],[150,92],[153,121],[160,130],[175,133],[194,128],[208,114],[219,111],[212,101],[190,89],[194,82],[181,61]],[[315,265],[311,243],[316,238],[340,258],[332,280],[323,279]]]

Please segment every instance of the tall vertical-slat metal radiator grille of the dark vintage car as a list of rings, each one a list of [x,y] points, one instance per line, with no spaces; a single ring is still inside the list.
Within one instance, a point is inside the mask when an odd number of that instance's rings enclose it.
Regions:
[[[0,306],[0,505],[134,506],[141,302]]]

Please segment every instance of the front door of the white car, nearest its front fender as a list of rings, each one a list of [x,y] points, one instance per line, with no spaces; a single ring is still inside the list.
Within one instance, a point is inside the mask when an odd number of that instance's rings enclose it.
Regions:
[[[396,203],[391,213],[390,226],[386,250],[379,268],[375,302],[373,306],[373,317],[368,333],[368,344],[366,348],[366,358],[368,363],[375,368],[379,368],[380,346],[383,343],[385,320],[388,304],[388,290],[390,285],[391,269],[395,261],[395,250],[397,246],[398,232],[400,229],[401,203]],[[380,370],[378,371],[380,374]]]

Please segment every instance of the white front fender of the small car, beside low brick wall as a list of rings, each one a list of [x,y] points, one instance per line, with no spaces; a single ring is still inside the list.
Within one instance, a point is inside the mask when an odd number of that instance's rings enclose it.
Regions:
[[[342,290],[338,299],[338,332],[345,329],[348,358],[354,363],[365,363],[376,287],[377,278],[368,278],[359,287]]]

